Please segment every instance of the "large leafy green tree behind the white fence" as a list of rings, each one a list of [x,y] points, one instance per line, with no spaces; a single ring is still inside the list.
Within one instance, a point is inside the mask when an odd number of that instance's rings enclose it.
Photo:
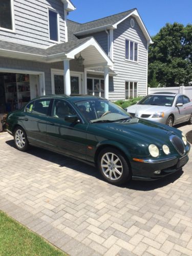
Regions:
[[[164,86],[188,85],[192,81],[192,25],[166,24],[148,48],[148,80]]]

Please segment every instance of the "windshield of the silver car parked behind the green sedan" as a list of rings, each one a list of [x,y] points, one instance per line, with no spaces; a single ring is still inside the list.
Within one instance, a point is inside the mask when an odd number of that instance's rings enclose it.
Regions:
[[[148,95],[141,99],[137,104],[157,105],[157,106],[172,106],[175,96],[169,95]]]

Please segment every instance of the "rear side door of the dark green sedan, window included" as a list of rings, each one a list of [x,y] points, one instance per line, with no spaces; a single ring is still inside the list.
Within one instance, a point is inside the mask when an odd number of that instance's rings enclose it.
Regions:
[[[26,106],[23,125],[29,142],[47,147],[46,128],[50,108],[50,99],[35,100]]]

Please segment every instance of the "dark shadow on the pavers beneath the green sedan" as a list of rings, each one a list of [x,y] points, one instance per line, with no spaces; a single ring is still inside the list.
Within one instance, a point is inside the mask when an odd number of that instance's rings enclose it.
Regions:
[[[14,144],[14,140],[7,140],[6,144],[8,144],[11,147],[14,147],[15,150],[16,146]],[[58,164],[60,167],[67,167],[74,170],[77,170],[77,172],[81,172],[83,174],[91,175],[99,180],[102,180],[102,176],[99,174],[97,168],[94,166],[91,166],[89,164],[83,163],[81,161],[78,161],[76,159],[63,156],[54,152],[50,152],[48,150],[38,148],[38,147],[31,147],[29,151],[26,152],[27,154],[33,155],[35,157],[44,159],[46,161]],[[149,191],[154,190],[156,188],[164,187],[170,183],[174,183],[179,177],[183,174],[182,170],[179,170],[178,172],[171,174],[169,176],[166,176],[162,179],[155,180],[155,181],[138,181],[138,180],[131,180],[124,185],[118,186],[122,188],[129,188],[132,190],[141,190],[141,191]],[[105,181],[104,181],[105,182]]]

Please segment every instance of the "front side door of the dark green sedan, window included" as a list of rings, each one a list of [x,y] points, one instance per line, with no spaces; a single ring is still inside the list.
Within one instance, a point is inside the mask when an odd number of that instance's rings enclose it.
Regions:
[[[47,123],[47,142],[51,150],[86,159],[87,124],[69,122],[68,115],[77,115],[72,106],[65,100],[53,101],[51,116]]]

